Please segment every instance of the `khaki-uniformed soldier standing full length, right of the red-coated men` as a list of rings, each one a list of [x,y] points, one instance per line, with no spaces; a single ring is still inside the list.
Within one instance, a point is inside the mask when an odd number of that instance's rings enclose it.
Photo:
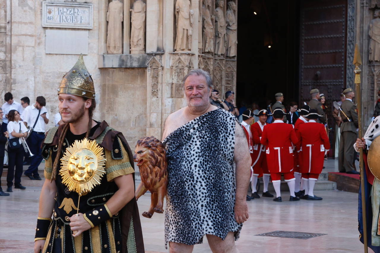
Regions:
[[[356,141],[356,128],[358,128],[358,111],[356,105],[352,103],[355,97],[355,92],[351,88],[343,91],[346,99],[343,101],[340,108],[351,120],[342,117],[343,123],[340,125],[340,143],[339,143],[339,172],[348,174],[359,174],[353,167],[355,149],[353,147]]]

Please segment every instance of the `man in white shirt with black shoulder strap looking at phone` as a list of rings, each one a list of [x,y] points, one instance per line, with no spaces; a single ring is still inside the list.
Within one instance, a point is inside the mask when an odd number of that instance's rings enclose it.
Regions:
[[[45,98],[38,96],[36,103],[25,108],[22,114],[22,120],[31,127],[28,145],[30,152],[34,155],[30,157],[30,166],[24,172],[25,176],[29,177],[30,180],[41,180],[38,174],[38,166],[42,161],[41,143],[45,137],[45,125],[49,123],[49,113],[45,106]]]

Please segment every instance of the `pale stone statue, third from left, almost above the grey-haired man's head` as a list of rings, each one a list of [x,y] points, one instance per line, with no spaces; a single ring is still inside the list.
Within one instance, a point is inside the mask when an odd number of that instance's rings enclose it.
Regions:
[[[177,0],[176,2],[176,51],[190,51],[193,34],[193,15],[190,0]]]

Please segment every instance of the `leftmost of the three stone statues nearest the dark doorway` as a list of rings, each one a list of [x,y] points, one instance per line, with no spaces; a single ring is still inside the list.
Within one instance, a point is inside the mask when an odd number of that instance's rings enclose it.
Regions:
[[[211,0],[204,0],[202,5],[203,52],[214,52],[214,16],[211,15],[210,9]]]

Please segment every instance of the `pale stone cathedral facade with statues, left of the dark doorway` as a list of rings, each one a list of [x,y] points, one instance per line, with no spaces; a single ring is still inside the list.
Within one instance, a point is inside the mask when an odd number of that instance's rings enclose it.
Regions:
[[[142,136],[161,137],[166,117],[185,105],[182,78],[190,69],[209,71],[221,93],[236,90],[237,0],[44,2],[0,0],[2,97],[10,91],[16,101],[32,102],[43,95],[54,115],[56,89],[78,47],[96,85],[95,119],[123,131],[133,145]],[[81,4],[90,4],[90,15]],[[50,25],[70,8],[85,13],[82,20],[92,18],[90,27]],[[68,38],[72,44],[60,44]],[[176,47],[181,43],[187,48]]]

